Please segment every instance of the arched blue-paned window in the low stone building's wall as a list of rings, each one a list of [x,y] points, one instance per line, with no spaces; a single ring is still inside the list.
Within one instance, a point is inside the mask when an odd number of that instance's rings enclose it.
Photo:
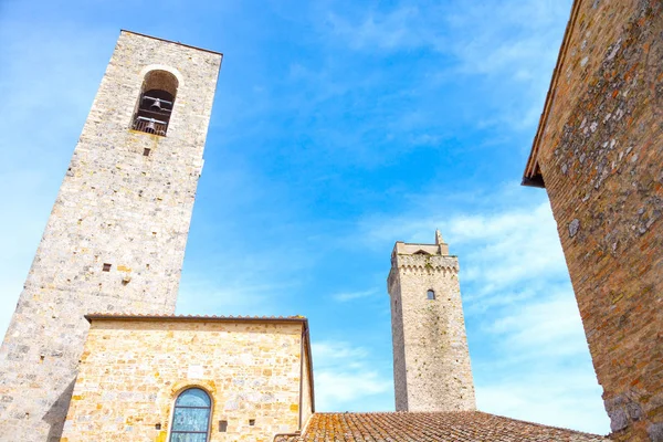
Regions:
[[[212,400],[204,390],[190,388],[177,397],[172,411],[170,442],[207,442]]]

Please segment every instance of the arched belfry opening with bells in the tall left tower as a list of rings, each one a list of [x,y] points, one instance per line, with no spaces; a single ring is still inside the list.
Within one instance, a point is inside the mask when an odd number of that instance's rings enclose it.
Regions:
[[[170,72],[148,72],[143,81],[131,128],[166,136],[178,84],[177,78]]]

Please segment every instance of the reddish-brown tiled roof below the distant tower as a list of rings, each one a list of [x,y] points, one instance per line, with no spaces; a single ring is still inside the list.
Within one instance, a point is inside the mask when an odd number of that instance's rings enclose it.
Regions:
[[[284,442],[603,442],[604,436],[481,411],[315,413],[302,436]]]

